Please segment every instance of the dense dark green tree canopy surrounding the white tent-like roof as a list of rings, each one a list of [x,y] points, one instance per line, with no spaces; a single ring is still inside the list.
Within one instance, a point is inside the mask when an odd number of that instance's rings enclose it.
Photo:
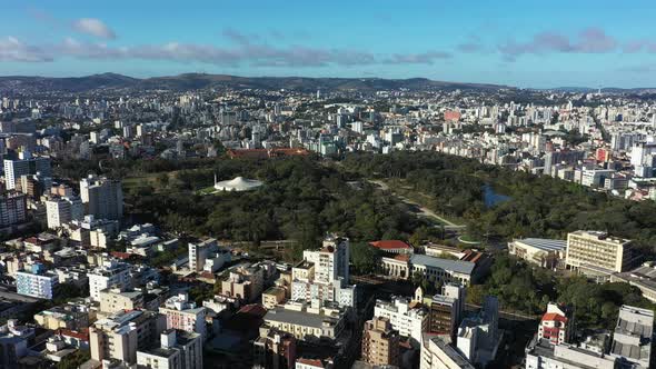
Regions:
[[[199,195],[198,190],[236,176],[257,178],[265,186],[250,192]],[[314,158],[270,160],[217,159],[206,168],[182,169],[167,180],[126,188],[130,215],[179,235],[211,235],[235,241],[291,239],[297,252],[316,247],[325,232],[352,241],[382,238],[407,240],[425,223],[400,201],[376,196],[376,187],[350,181]]]

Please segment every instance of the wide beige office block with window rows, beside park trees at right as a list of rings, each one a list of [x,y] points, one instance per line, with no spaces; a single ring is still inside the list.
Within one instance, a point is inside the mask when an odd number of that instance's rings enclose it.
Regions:
[[[634,262],[630,240],[610,237],[606,232],[576,231],[567,235],[567,268],[580,270],[594,266],[614,272],[630,269]]]

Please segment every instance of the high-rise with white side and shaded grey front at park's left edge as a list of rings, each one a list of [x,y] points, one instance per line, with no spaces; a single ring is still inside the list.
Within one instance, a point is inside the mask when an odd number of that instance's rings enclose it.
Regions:
[[[80,197],[87,206],[87,213],[98,219],[120,220],[123,217],[120,181],[89,176],[80,181]]]

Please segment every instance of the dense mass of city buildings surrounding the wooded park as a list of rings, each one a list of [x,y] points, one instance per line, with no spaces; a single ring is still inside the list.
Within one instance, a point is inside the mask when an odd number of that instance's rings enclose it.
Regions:
[[[126,225],[120,181],[93,174],[60,181],[51,162],[181,160],[223,150],[232,159],[430,150],[656,199],[652,106],[567,92],[531,92],[539,103],[515,103],[510,93],[226,90],[3,99],[0,231],[27,233],[34,225],[47,231],[0,250],[0,318],[7,320],[0,367],[49,366],[78,350],[89,352],[82,368],[90,369],[196,369],[217,352],[226,366],[275,369],[342,368],[356,358],[354,368],[496,367],[506,349],[499,303],[487,296],[480,307],[466,305],[467,288],[491,263],[484,252],[374,241],[382,252],[379,277],[421,278],[440,288],[367,301],[351,285],[345,237],[327,235],[292,266],[249,258],[212,238],[182,241],[153,225]],[[58,122],[43,127],[47,118]],[[261,186],[237,177],[215,179],[213,188]],[[639,265],[630,240],[576,231],[567,240],[517,239],[508,251],[541,268],[627,282],[656,301],[656,267]],[[39,302],[48,308],[22,319],[32,322],[11,319]],[[624,306],[614,331],[582,339],[571,309],[549,303],[524,363],[648,368],[653,323],[652,311]]]

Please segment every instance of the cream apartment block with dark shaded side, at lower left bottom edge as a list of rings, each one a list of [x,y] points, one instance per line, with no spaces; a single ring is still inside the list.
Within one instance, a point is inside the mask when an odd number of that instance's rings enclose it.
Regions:
[[[165,330],[163,316],[152,311],[129,311],[98,320],[89,328],[91,359],[137,362],[137,350],[150,349]]]

